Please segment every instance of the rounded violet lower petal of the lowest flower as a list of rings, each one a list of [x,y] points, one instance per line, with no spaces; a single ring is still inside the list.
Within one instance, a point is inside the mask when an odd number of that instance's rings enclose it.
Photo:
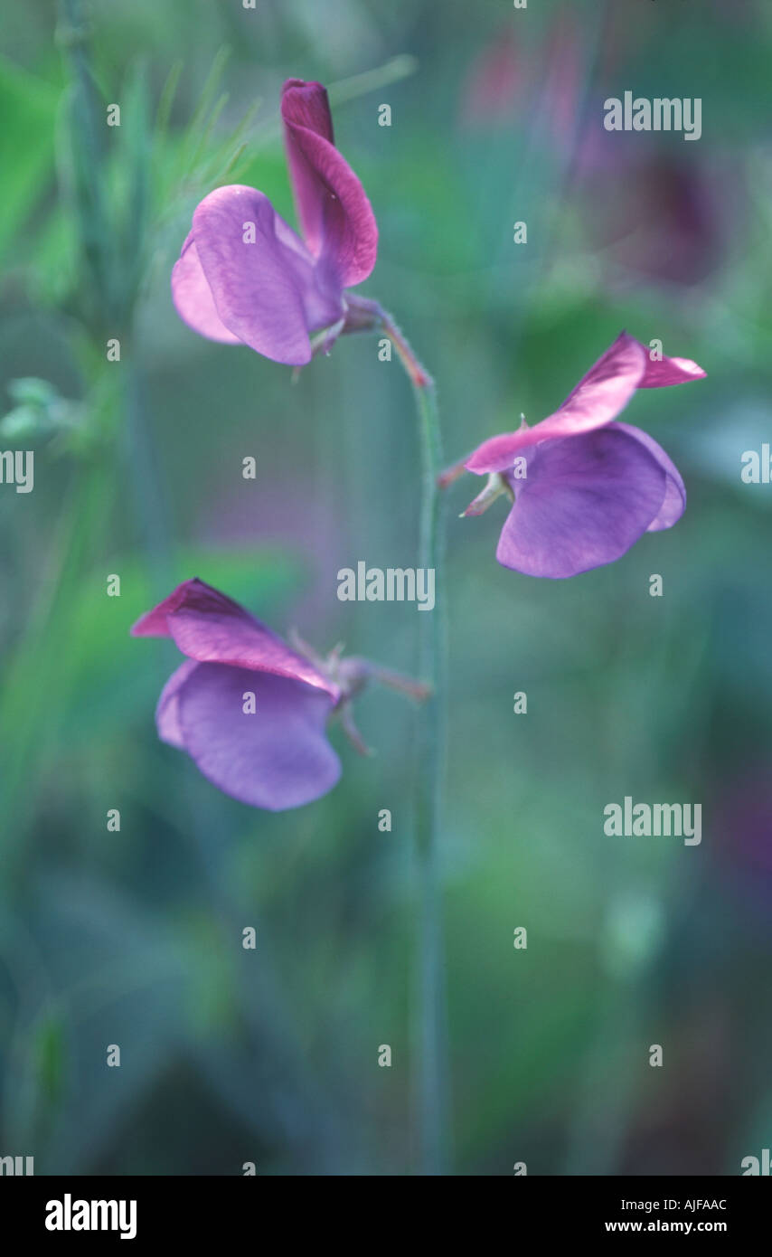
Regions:
[[[244,695],[254,694],[254,713]],[[301,681],[200,664],[177,693],[185,749],[225,794],[280,812],[326,794],[341,762],[324,729],[328,694]]]

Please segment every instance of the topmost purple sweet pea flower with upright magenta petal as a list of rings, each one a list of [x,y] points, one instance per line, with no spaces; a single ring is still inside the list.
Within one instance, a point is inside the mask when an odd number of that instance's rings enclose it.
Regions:
[[[287,160],[303,239],[254,187],[218,187],[197,205],[171,277],[180,317],[201,336],[274,362],[311,361],[346,327],[345,289],[367,279],[378,231],[360,180],[334,147],[327,92],[288,79]]]

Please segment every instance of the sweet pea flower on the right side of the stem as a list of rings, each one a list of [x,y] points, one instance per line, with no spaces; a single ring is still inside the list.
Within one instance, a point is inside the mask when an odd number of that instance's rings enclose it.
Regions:
[[[495,553],[503,567],[560,579],[612,563],[645,532],[671,528],[687,505],[665,451],[616,416],[636,388],[704,375],[688,358],[651,361],[622,332],[553,415],[484,441],[440,483],[464,469],[488,475],[466,515],[482,514],[500,494],[513,502]]]

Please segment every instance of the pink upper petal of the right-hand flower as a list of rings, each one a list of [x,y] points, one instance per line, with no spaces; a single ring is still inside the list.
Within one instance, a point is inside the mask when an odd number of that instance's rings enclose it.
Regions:
[[[468,471],[478,475],[507,471],[519,451],[531,445],[576,436],[610,424],[625,409],[636,388],[684,383],[704,375],[688,358],[651,362],[649,349],[622,332],[568,393],[560,410],[533,427],[521,427],[516,432],[504,432],[483,441],[464,465]]]

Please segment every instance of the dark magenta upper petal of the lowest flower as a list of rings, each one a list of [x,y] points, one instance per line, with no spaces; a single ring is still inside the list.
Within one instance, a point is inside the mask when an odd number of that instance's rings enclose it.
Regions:
[[[184,655],[201,664],[233,664],[274,672],[324,690],[333,703],[341,691],[270,628],[197,578],[179,585],[132,627],[135,637],[172,637]]]

